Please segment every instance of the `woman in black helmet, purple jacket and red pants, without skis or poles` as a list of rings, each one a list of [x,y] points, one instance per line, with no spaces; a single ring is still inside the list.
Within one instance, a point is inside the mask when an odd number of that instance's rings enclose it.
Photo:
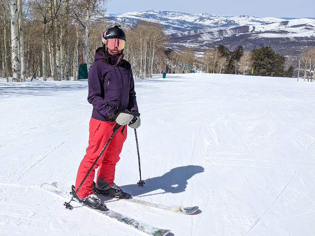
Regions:
[[[89,71],[88,101],[93,105],[90,120],[89,146],[79,166],[75,188],[87,175],[97,156],[113,134],[114,127],[120,125],[112,140],[104,150],[86,180],[76,193],[76,197],[90,207],[107,210],[95,195],[130,198],[114,183],[115,167],[127,136],[127,128],[140,126],[140,114],[136,102],[131,66],[124,58],[126,34],[120,26],[107,29],[102,37],[103,47],[95,52],[95,61]],[[116,126],[115,126],[116,125]],[[93,191],[95,169],[98,167],[95,192]]]

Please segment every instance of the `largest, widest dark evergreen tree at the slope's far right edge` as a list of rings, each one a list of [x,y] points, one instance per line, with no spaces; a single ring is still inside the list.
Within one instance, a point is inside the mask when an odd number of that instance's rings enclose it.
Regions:
[[[283,76],[285,57],[270,47],[261,47],[252,50],[252,66],[254,74],[260,76]]]

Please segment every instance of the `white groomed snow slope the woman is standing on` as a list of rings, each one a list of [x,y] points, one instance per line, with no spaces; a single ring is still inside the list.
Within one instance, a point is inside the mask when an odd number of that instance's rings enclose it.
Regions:
[[[194,215],[109,202],[175,236],[312,236],[314,84],[179,74],[135,80],[142,124],[128,128],[115,182],[132,195],[199,206]],[[0,78],[0,235],[141,236],[40,186],[74,183],[88,141],[87,80]],[[79,206],[75,205],[74,206]]]

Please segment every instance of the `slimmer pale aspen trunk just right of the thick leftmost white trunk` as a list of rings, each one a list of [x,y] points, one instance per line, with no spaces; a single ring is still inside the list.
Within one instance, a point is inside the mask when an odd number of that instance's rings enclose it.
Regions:
[[[22,0],[17,0],[18,8],[18,34],[19,34],[19,59],[21,68],[21,82],[25,82],[26,69],[25,69],[25,57],[24,57],[24,35],[23,35],[23,19],[22,19]]]

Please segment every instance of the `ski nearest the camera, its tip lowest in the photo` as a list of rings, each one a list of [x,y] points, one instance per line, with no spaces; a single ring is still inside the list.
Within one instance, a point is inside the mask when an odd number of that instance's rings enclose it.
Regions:
[[[48,183],[44,183],[42,184],[40,187],[49,191],[49,192],[52,192],[52,193],[55,193],[61,197],[64,197],[64,198],[69,198],[69,190],[67,189],[63,189],[63,184],[58,184],[57,182],[54,182],[52,184],[48,184]],[[128,217],[126,215],[123,215],[119,212],[116,212],[116,211],[113,211],[113,210],[107,210],[107,211],[101,211],[101,210],[98,210],[98,209],[95,209],[93,207],[90,207],[86,204],[83,204],[83,203],[80,203],[77,199],[73,198],[73,201],[75,201],[76,203],[79,203],[80,205],[83,205],[85,207],[89,207],[90,209],[93,209],[103,215],[106,215],[112,219],[115,219],[119,222],[122,222],[128,226],[131,226],[133,227],[134,229],[137,229],[141,232],[144,232],[148,235],[153,235],[153,236],[165,236],[167,235],[170,230],[163,230],[163,229],[159,229],[157,227],[154,227],[154,226],[151,226],[151,225],[148,225],[146,223],[142,223],[138,220],[135,220],[131,217]]]

